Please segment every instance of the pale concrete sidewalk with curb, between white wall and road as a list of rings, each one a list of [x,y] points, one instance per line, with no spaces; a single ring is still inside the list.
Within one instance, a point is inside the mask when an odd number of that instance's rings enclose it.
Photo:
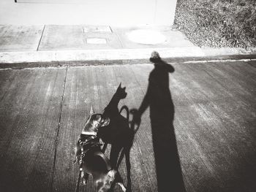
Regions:
[[[255,49],[200,48],[169,26],[0,26],[0,63],[204,57],[255,53]]]

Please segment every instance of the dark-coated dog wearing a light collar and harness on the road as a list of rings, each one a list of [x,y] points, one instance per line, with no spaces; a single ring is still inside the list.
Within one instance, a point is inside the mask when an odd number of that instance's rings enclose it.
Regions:
[[[109,159],[102,153],[99,137],[97,137],[99,128],[108,126],[109,123],[109,118],[103,118],[102,114],[94,113],[91,107],[89,118],[75,147],[76,161],[80,164],[79,179],[81,177],[83,184],[86,184],[88,175],[91,174],[97,191],[109,191],[115,183],[126,191],[117,169],[113,169],[115,167],[111,166]]]

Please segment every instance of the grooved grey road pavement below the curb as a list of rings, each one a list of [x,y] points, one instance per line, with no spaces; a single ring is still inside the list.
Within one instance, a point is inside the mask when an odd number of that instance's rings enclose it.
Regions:
[[[143,112],[132,191],[255,191],[256,62],[171,65],[1,69],[0,191],[75,191],[75,142],[120,82],[119,107]],[[124,160],[119,171],[127,183]]]

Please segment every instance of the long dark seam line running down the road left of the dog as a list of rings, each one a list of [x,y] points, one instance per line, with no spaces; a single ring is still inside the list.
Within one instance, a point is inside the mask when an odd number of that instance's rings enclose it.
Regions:
[[[62,114],[62,107],[63,107],[63,101],[64,101],[64,95],[65,95],[65,90],[66,90],[66,82],[67,82],[67,68],[66,67],[66,74],[65,74],[65,79],[64,79],[64,86],[63,86],[63,92],[61,96],[61,106],[60,106],[60,112],[59,112],[59,123],[58,123],[58,128],[57,128],[57,133],[56,133],[56,139],[55,139],[55,150],[54,150],[54,157],[53,157],[53,171],[51,173],[51,181],[50,181],[50,191],[53,191],[53,179],[54,179],[54,174],[55,174],[55,169],[56,169],[56,158],[57,158],[57,147],[59,143],[59,129],[61,127],[61,114]]]

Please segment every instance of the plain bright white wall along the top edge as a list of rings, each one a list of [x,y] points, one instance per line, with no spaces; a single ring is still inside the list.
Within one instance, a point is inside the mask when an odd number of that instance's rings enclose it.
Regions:
[[[27,3],[0,0],[0,24],[170,26],[176,9],[176,0],[83,0],[83,3],[82,0],[19,1]]]

